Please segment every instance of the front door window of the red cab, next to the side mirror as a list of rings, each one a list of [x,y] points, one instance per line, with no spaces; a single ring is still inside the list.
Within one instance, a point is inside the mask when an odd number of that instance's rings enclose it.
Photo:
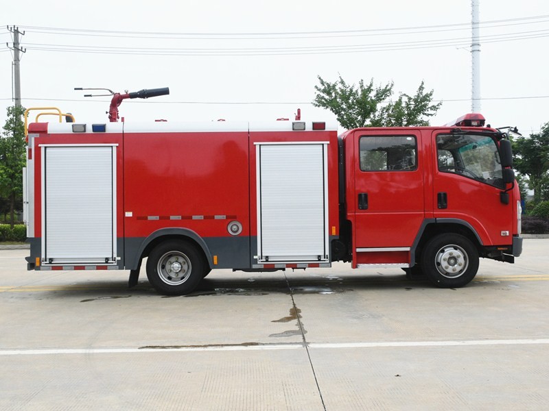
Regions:
[[[449,134],[436,137],[439,171],[504,188],[500,153],[491,136]]]

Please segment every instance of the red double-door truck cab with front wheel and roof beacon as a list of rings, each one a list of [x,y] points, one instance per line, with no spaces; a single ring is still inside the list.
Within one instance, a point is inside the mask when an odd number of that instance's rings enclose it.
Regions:
[[[401,266],[457,287],[474,278],[479,257],[513,262],[520,255],[509,140],[470,119],[456,124],[340,136],[342,260],[353,268]]]

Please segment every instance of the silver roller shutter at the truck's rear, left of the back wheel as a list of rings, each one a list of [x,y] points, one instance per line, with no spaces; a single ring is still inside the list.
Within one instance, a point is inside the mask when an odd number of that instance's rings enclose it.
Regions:
[[[116,147],[43,149],[46,264],[115,262]]]

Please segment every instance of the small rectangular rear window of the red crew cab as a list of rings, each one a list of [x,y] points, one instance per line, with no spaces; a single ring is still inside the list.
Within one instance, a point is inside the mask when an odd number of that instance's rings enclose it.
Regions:
[[[361,171],[414,171],[417,142],[412,136],[360,137]]]

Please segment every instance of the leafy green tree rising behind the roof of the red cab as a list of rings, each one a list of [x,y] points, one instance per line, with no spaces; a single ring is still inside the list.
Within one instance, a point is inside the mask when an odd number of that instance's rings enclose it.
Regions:
[[[393,96],[393,82],[384,86],[374,86],[364,80],[347,84],[341,76],[336,82],[327,82],[318,76],[320,85],[314,86],[316,95],[313,105],[327,108],[346,129],[358,127],[392,127],[429,125],[428,117],[434,116],[442,103],[432,102],[433,90],[425,92],[423,82],[413,96],[403,92],[396,100]]]

